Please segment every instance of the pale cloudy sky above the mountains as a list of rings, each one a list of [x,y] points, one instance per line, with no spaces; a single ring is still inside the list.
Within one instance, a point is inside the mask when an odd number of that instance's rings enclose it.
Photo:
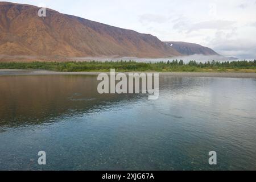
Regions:
[[[256,59],[256,0],[31,0],[163,41],[198,43],[224,56]]]

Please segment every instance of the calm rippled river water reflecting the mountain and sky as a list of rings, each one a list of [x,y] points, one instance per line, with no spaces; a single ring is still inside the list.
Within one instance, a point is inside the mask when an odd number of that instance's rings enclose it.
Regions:
[[[0,76],[0,96],[0,169],[256,169],[253,78],[161,76],[150,101],[97,94],[96,76]]]

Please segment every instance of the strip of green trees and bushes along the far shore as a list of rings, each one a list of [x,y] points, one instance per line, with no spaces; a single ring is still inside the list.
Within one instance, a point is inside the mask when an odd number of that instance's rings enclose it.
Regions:
[[[61,72],[109,72],[115,69],[117,72],[256,72],[256,60],[254,61],[208,61],[197,63],[183,60],[173,60],[158,63],[138,63],[136,61],[89,61],[89,62],[31,62],[31,63],[0,63],[0,69],[44,69]]]

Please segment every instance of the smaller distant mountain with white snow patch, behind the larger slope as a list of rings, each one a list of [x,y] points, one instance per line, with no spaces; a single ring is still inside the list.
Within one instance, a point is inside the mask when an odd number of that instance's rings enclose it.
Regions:
[[[187,42],[165,42],[167,46],[171,46],[182,55],[219,55],[208,47],[200,46]]]

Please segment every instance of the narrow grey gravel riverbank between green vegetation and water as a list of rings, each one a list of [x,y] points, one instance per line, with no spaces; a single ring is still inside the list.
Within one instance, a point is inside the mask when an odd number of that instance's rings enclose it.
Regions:
[[[20,70],[20,69],[0,69],[0,76],[11,75],[98,75],[101,72],[56,72],[44,70]],[[106,72],[108,73],[108,72]],[[129,72],[127,72],[129,73]],[[142,72],[139,72],[142,73]],[[156,72],[145,72],[156,73]],[[223,78],[256,78],[256,73],[237,72],[160,72],[160,75],[174,77],[223,77]]]

